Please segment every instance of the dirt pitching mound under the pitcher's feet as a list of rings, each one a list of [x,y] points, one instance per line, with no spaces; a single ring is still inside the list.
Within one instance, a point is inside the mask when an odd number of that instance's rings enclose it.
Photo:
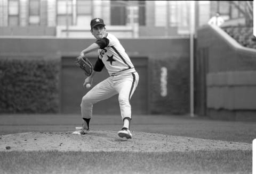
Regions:
[[[251,150],[248,143],[204,140],[181,136],[132,132],[130,140],[119,138],[116,131],[28,132],[1,135],[0,151],[131,151],[171,152],[196,150]]]

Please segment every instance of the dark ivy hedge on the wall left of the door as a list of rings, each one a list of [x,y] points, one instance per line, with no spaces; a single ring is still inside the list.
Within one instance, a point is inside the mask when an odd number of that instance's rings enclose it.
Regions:
[[[0,113],[59,112],[60,60],[0,56]]]

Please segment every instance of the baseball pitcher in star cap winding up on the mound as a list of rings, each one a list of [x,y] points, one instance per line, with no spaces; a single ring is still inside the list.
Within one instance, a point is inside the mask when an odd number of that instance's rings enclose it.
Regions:
[[[123,127],[118,132],[118,136],[127,139],[132,138],[130,132],[132,119],[130,99],[137,88],[139,74],[136,72],[131,59],[125,53],[119,40],[113,34],[106,32],[102,19],[95,18],[91,20],[91,33],[97,40],[82,50],[80,57],[86,57],[86,54],[98,49],[98,60],[92,72],[86,77],[83,85],[86,88],[91,88],[93,76],[95,73],[101,72],[103,67],[106,67],[109,77],[95,85],[82,98],[81,112],[83,127],[78,127],[74,134],[86,134],[90,131],[89,124],[94,103],[118,94],[119,107],[123,120]]]

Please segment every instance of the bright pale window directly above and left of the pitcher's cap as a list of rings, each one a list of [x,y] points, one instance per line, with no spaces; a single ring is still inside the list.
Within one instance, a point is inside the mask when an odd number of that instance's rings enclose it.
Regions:
[[[77,0],[77,25],[88,25],[91,21],[92,1]]]

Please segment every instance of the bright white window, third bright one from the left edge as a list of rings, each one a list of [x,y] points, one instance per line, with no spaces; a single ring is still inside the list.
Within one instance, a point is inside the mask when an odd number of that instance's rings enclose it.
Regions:
[[[72,25],[72,0],[57,1],[57,25]]]

